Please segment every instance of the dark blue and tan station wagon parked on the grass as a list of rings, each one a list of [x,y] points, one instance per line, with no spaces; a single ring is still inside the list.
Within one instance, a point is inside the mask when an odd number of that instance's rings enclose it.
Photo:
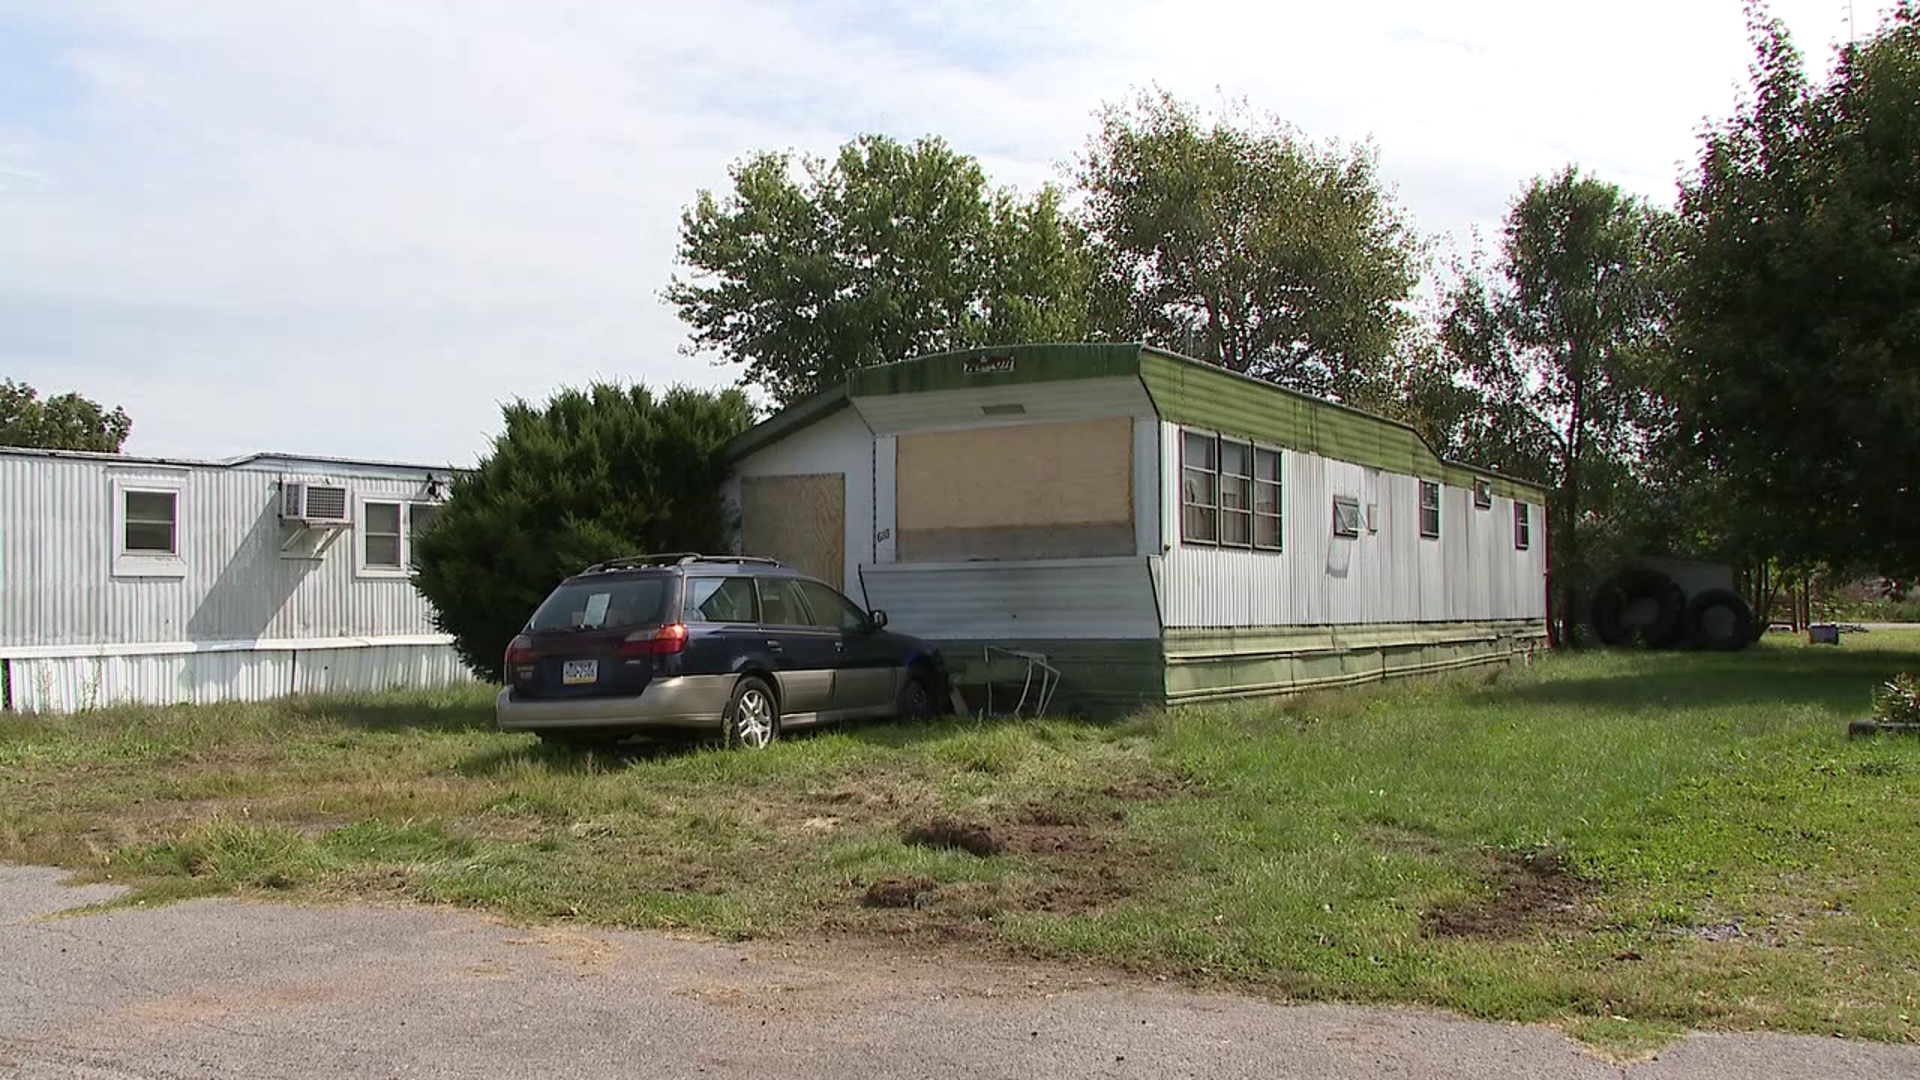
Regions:
[[[764,748],[783,728],[941,709],[939,651],[826,582],[747,555],[636,555],[563,580],[507,646],[501,730],[660,728]]]

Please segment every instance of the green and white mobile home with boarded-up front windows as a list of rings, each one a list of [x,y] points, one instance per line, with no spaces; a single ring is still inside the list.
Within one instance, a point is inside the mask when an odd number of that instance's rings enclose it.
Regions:
[[[1546,642],[1546,494],[1413,429],[1137,344],[858,371],[733,444],[741,550],[1056,701],[1286,694]]]

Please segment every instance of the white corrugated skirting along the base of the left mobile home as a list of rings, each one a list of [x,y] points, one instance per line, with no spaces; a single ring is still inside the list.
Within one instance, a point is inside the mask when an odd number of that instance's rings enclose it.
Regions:
[[[73,713],[108,705],[209,705],[286,694],[451,686],[472,676],[447,646],[202,651],[13,659],[13,707]]]

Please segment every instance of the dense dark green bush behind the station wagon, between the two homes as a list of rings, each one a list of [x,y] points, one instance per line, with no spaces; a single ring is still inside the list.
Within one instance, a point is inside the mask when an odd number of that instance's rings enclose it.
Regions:
[[[637,552],[720,552],[722,448],[753,421],[739,390],[593,386],[515,402],[478,469],[415,542],[413,580],[474,673],[566,575]]]

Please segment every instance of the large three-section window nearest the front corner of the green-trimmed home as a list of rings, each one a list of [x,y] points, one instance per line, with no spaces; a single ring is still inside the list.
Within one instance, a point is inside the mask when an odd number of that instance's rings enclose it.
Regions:
[[[1204,430],[1181,432],[1181,540],[1281,550],[1281,452]]]

